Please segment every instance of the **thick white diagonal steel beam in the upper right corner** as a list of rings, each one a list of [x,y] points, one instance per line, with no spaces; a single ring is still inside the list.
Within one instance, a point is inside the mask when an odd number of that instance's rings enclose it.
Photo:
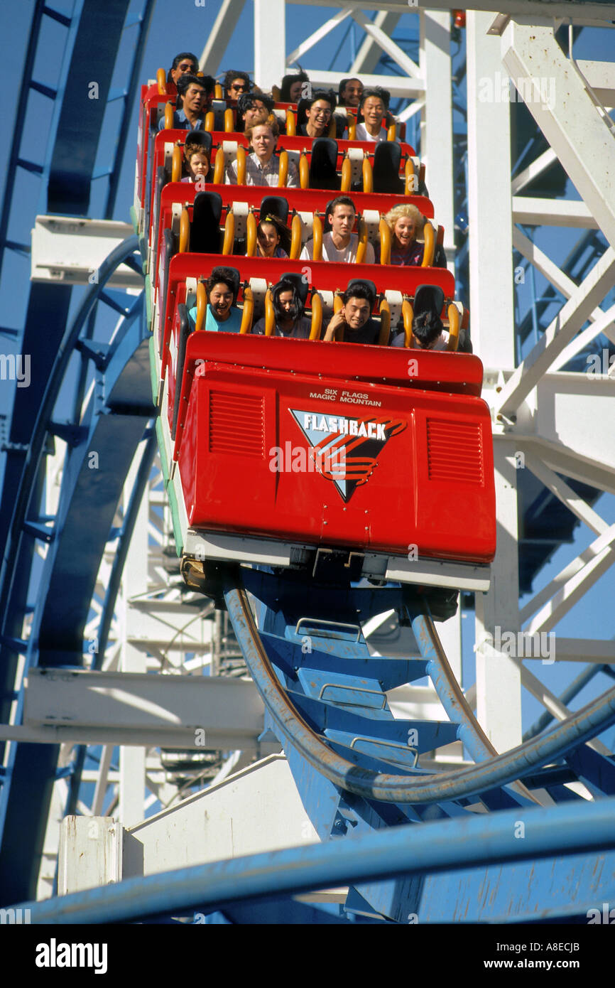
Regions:
[[[502,60],[517,88],[523,80],[549,80],[549,95],[527,108],[555,150],[606,239],[615,247],[615,142],[574,66],[553,33],[536,19],[510,21],[501,37]],[[546,87],[544,87],[546,89]]]

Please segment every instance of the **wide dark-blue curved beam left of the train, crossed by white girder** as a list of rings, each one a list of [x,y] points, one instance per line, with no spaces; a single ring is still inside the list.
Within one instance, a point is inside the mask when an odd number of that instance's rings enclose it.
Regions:
[[[140,336],[141,326],[133,324],[127,334],[132,359],[126,361],[121,351],[115,355],[115,366],[109,368],[106,378],[111,390],[108,404],[93,416],[64,471],[56,521],[58,534],[47,552],[33,618],[32,642],[38,646],[32,648],[33,665],[39,661],[46,666],[80,666],[82,662],[83,626],[117,500],[153,414],[146,373],[147,341],[140,340]],[[140,377],[140,390],[135,387],[135,372]],[[128,379],[122,379],[125,377]],[[132,408],[126,401],[128,392],[135,402]],[[150,405],[138,404],[148,392]],[[117,394],[122,411],[113,407]],[[98,470],[88,466],[88,452],[93,449],[100,455]],[[22,702],[20,698],[20,712]],[[4,818],[0,844],[3,901],[36,894],[58,752],[56,745],[12,746],[10,775],[0,789],[0,823]]]

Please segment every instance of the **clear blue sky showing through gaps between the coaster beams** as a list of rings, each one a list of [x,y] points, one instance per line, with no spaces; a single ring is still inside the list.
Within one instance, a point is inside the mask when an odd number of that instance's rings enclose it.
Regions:
[[[2,48],[2,59],[0,61],[0,73],[2,77],[2,91],[5,94],[5,120],[11,120],[13,107],[17,100],[19,84],[23,70],[24,54],[28,41],[30,22],[34,9],[34,0],[20,0],[18,4],[10,6],[10,17],[7,16],[8,4],[4,2],[3,32],[0,39]],[[56,4],[56,9],[65,13],[70,13],[72,5],[68,3]],[[133,3],[132,9],[138,11],[140,3]],[[156,69],[160,66],[168,67],[173,55],[184,49],[192,50],[196,55],[200,55],[202,47],[208,36],[208,32],[213,25],[219,4],[217,0],[206,0],[204,7],[196,7],[189,0],[183,0],[181,4],[158,3],[146,44],[143,59],[142,78],[145,81],[148,77],[153,78]],[[254,67],[253,50],[253,28],[252,28],[253,4],[246,3],[246,7],[238,30],[235,32],[232,44],[225,52],[221,62],[221,70],[228,67],[246,68],[252,70]],[[298,6],[289,5],[287,14],[287,48],[295,47],[297,42],[305,36],[306,25],[309,30],[315,30],[318,24],[323,23],[335,13],[334,8],[313,7],[308,4]],[[406,37],[417,30],[418,19],[415,15],[405,15],[400,29]],[[38,81],[54,86],[57,73],[63,56],[63,45],[66,37],[64,29],[45,19],[43,28],[44,44],[38,50],[38,57],[35,64],[35,76]],[[346,32],[346,23],[336,29],[329,38],[314,48],[305,56],[306,65],[317,65],[321,68],[331,67],[331,60],[336,53],[340,42]],[[360,43],[361,33],[357,31],[354,43]],[[606,31],[586,31],[581,35],[576,46],[577,57],[608,58],[612,57],[613,33]],[[130,34],[126,33],[124,44],[130,43]],[[346,69],[352,40],[347,41],[345,49],[338,56],[335,68],[341,71]],[[120,50],[115,69],[115,85],[123,86],[124,72],[122,50]],[[132,139],[129,140],[124,155],[119,195],[115,208],[115,218],[128,221],[128,210],[132,203],[133,177],[134,177],[134,147],[136,144],[136,105],[133,109],[132,117]],[[112,111],[113,113],[113,111]],[[24,139],[22,144],[22,156],[33,160],[42,161],[48,134],[49,120],[51,115],[51,103],[44,97],[34,94],[31,97],[29,115],[24,122]],[[112,159],[114,127],[107,126],[101,140],[97,165],[103,169]],[[8,155],[8,142],[3,142],[0,147],[0,164],[5,166]],[[5,168],[3,168],[4,174]],[[428,183],[428,176],[427,176]],[[95,183],[95,186],[97,184]],[[104,194],[106,191],[106,180],[102,179],[95,188],[90,215],[99,215],[102,209]],[[37,211],[44,211],[39,203],[39,182],[38,178],[25,172],[20,172],[16,185],[16,195],[14,197],[12,221],[9,227],[9,235],[16,240],[29,241],[30,229],[34,224],[34,217]],[[567,238],[563,231],[547,231],[543,234],[540,246],[549,253],[555,261],[561,261],[568,251]],[[0,282],[0,299],[2,302],[2,316],[0,325],[18,328],[21,326],[25,311],[25,302],[28,293],[29,260],[8,252],[5,258],[2,280]],[[539,280],[539,290],[541,288]],[[75,296],[79,296],[80,290],[74,291]],[[43,331],[43,328],[41,328]],[[11,341],[0,336],[0,351],[9,353],[13,349]],[[5,411],[10,400],[10,390],[6,382],[2,382],[0,387],[0,411]],[[603,514],[609,523],[615,522],[615,498],[612,496],[603,497],[596,508]],[[566,564],[577,552],[581,551],[592,539],[592,535],[583,526],[577,530],[577,537],[574,545],[562,546],[554,555],[554,558],[536,581],[535,589],[539,589],[544,583],[552,579],[562,566]],[[611,638],[615,634],[615,613],[612,606],[613,580],[609,575],[603,578],[596,587],[581,601],[579,605],[566,617],[557,628],[557,632],[572,637],[594,637]],[[470,624],[468,618],[464,624]],[[472,621],[473,624],[473,621]],[[468,667],[472,666],[472,659],[468,659]],[[577,675],[580,667],[577,665],[562,666],[542,666],[531,663],[532,671],[544,680],[547,685],[556,693],[559,693],[563,685],[572,676]],[[600,690],[606,688],[607,682],[603,676],[599,677],[597,683]],[[581,695],[582,700],[586,700],[588,693],[595,692],[595,687],[590,688]],[[539,704],[524,695],[526,714],[524,721],[531,722],[541,711]],[[574,705],[578,705],[577,703]]]

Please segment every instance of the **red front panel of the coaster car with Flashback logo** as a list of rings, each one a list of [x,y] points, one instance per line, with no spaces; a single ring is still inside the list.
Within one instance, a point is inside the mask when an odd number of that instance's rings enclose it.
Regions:
[[[195,529],[481,563],[495,554],[491,421],[471,395],[206,362],[179,465]]]

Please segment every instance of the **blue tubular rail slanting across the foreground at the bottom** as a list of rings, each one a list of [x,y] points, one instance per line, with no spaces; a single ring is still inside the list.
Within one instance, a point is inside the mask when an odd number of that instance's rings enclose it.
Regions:
[[[515,809],[394,827],[368,837],[130,878],[15,908],[30,909],[37,924],[121,923],[346,883],[615,848],[615,799],[527,809],[522,841],[513,836],[517,818]]]

